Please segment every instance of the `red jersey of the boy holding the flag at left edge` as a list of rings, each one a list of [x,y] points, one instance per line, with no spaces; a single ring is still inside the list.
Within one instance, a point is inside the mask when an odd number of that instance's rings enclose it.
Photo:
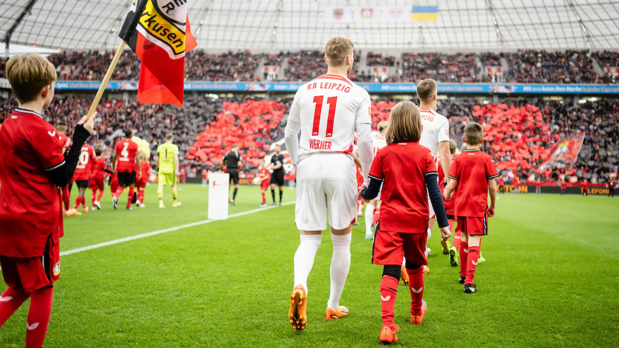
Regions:
[[[63,165],[63,144],[51,124],[16,108],[0,128],[0,255],[43,255],[63,233],[61,193],[45,170]]]

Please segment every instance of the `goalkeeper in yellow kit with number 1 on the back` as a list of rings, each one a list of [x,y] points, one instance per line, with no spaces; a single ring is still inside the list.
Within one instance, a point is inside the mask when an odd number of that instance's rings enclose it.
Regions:
[[[165,208],[163,205],[163,186],[170,185],[172,188],[173,207],[178,207],[181,202],[176,201],[178,191],[176,190],[176,176],[178,176],[178,146],[172,144],[174,137],[172,134],[165,136],[165,142],[157,147],[157,166],[159,168],[159,187],[157,188],[157,196],[159,198],[159,207]]]

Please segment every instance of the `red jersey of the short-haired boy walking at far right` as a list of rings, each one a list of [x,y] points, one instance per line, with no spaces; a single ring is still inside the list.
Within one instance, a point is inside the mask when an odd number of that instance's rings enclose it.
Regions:
[[[456,215],[485,217],[488,180],[499,176],[492,157],[479,149],[464,150],[454,159],[448,176],[457,180]]]

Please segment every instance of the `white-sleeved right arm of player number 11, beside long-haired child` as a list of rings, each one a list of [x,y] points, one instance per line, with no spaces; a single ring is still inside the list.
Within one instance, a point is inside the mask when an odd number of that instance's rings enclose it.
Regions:
[[[357,108],[357,118],[355,125],[357,126],[357,150],[359,152],[359,160],[361,161],[361,169],[363,170],[363,185],[368,185],[370,179],[370,167],[374,160],[374,141],[372,139],[371,129],[371,106],[370,95],[363,90],[363,101]]]

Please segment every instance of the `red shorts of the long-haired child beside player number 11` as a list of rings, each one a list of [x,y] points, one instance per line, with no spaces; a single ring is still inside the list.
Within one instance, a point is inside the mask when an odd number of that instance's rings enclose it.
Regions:
[[[425,246],[428,233],[397,233],[379,230],[376,225],[372,248],[373,264],[402,264],[402,254],[414,264],[426,265]]]

